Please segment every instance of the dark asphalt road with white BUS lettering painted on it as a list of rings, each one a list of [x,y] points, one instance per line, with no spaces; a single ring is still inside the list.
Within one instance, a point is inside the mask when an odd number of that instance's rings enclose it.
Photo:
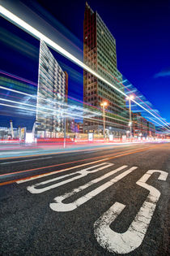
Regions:
[[[169,255],[170,144],[0,158],[0,255]]]

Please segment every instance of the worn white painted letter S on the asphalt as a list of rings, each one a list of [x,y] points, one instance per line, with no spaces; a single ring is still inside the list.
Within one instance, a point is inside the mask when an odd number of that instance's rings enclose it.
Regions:
[[[115,202],[113,206],[111,206],[100,219],[97,219],[96,223],[94,223],[96,240],[104,249],[108,249],[111,253],[128,254],[142,244],[142,240],[147,232],[147,228],[155,211],[156,203],[160,196],[158,189],[146,184],[147,180],[154,172],[160,173],[158,180],[167,179],[167,172],[149,170],[137,181],[136,184],[149,190],[150,193],[126,232],[117,233],[109,228],[110,224],[117,218],[117,215],[119,215],[125,208],[125,205],[119,202]]]

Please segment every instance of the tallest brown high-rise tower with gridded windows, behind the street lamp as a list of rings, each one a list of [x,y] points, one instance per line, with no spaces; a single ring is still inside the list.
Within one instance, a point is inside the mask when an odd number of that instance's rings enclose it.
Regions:
[[[83,59],[84,63],[95,70],[105,80],[124,91],[122,76],[117,70],[116,41],[100,15],[91,10],[86,3],[83,22]],[[103,81],[83,72],[83,101],[91,106],[100,107],[108,102],[106,109],[106,130],[125,134],[128,125],[128,111],[125,108],[125,96],[105,84]],[[84,121],[85,132],[102,132],[102,119],[99,122]]]

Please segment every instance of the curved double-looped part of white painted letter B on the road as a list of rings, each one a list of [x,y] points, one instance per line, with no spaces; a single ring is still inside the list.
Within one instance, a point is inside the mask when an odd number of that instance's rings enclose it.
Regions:
[[[103,169],[105,169],[107,167],[111,167],[111,166],[113,166],[113,163],[100,163],[100,164],[97,164],[96,166],[88,167],[86,169],[83,169],[83,170],[80,170],[80,171],[76,171],[74,173],[66,174],[64,176],[59,176],[57,178],[53,178],[53,179],[50,179],[50,180],[45,180],[45,181],[40,182],[38,184],[34,184],[32,186],[28,186],[27,189],[28,189],[28,191],[30,193],[43,193],[43,192],[45,192],[45,191],[47,191],[49,189],[54,189],[54,188],[57,188],[59,186],[62,186],[63,184],[67,184],[67,183],[69,183],[69,182],[71,182],[73,180],[78,180],[78,179],[80,179],[80,178],[82,178],[84,176],[87,176],[89,173],[94,173],[96,171],[100,171],[100,170],[103,170]],[[91,169],[94,169],[94,170],[91,170]],[[75,176],[77,174],[79,174],[79,176]],[[49,183],[51,183],[53,181],[56,181],[56,180],[61,180],[63,178],[69,177],[69,176],[74,176],[74,177],[72,177],[72,178],[70,178],[68,180],[62,180],[61,182],[58,182],[57,184],[51,184],[51,185],[49,185],[49,186],[47,186],[47,187],[45,187],[43,189],[37,189],[37,187],[40,187],[40,186],[45,185],[45,184],[49,184]]]

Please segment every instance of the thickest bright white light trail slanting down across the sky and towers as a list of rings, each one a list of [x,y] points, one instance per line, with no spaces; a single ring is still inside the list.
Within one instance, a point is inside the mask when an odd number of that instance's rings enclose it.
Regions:
[[[1,15],[7,19],[10,20],[12,23],[15,23],[17,26],[19,26],[19,28],[23,28],[24,31],[26,31],[27,33],[31,33],[33,37],[36,37],[37,39],[40,39],[42,41],[45,41],[47,43],[47,45],[49,45],[50,47],[53,48],[53,50],[56,50],[58,53],[62,54],[64,57],[66,57],[66,59],[70,59],[70,61],[76,63],[79,67],[82,67],[84,70],[86,70],[87,72],[90,72],[92,75],[96,76],[98,79],[102,80],[105,84],[111,86],[113,89],[116,89],[117,92],[121,93],[122,95],[124,95],[125,97],[127,97],[128,95],[125,94],[124,92],[122,92],[120,89],[118,89],[116,86],[114,86],[113,84],[111,84],[110,82],[108,82],[108,80],[105,80],[102,76],[100,76],[97,72],[93,71],[90,67],[88,67],[86,64],[84,64],[83,62],[81,62],[79,59],[77,59],[76,57],[74,57],[73,54],[70,54],[67,50],[63,49],[61,46],[58,46],[56,42],[52,41],[51,39],[49,39],[49,37],[46,37],[43,33],[40,33],[40,31],[38,31],[36,28],[33,28],[31,25],[29,25],[27,22],[25,22],[24,20],[20,19],[17,15],[14,15],[11,11],[8,11],[6,8],[2,7],[2,5],[0,6],[0,12]],[[142,106],[141,104],[139,104],[138,102],[136,102],[134,99],[132,100],[134,103],[136,103],[138,106],[140,106],[142,109],[144,109],[145,111],[147,111],[148,113],[150,113],[152,116],[154,116],[156,119],[159,119],[156,115],[154,115],[153,113],[151,113],[151,111],[148,111],[146,107]],[[161,119],[159,119],[159,121],[161,123],[163,123],[165,126],[167,126],[168,124],[166,124],[164,121],[162,121]],[[167,130],[169,130],[169,127],[166,128]]]

